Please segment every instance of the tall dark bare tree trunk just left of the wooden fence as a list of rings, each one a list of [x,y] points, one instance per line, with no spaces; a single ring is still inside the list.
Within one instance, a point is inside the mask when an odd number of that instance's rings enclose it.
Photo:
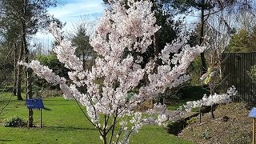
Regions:
[[[202,46],[203,38],[204,38],[204,25],[205,25],[205,0],[201,1],[202,8],[201,8],[201,29],[200,29],[200,39],[199,39],[199,46]],[[200,54],[201,62],[202,62],[202,74],[207,72],[206,66],[206,58],[204,52]]]

